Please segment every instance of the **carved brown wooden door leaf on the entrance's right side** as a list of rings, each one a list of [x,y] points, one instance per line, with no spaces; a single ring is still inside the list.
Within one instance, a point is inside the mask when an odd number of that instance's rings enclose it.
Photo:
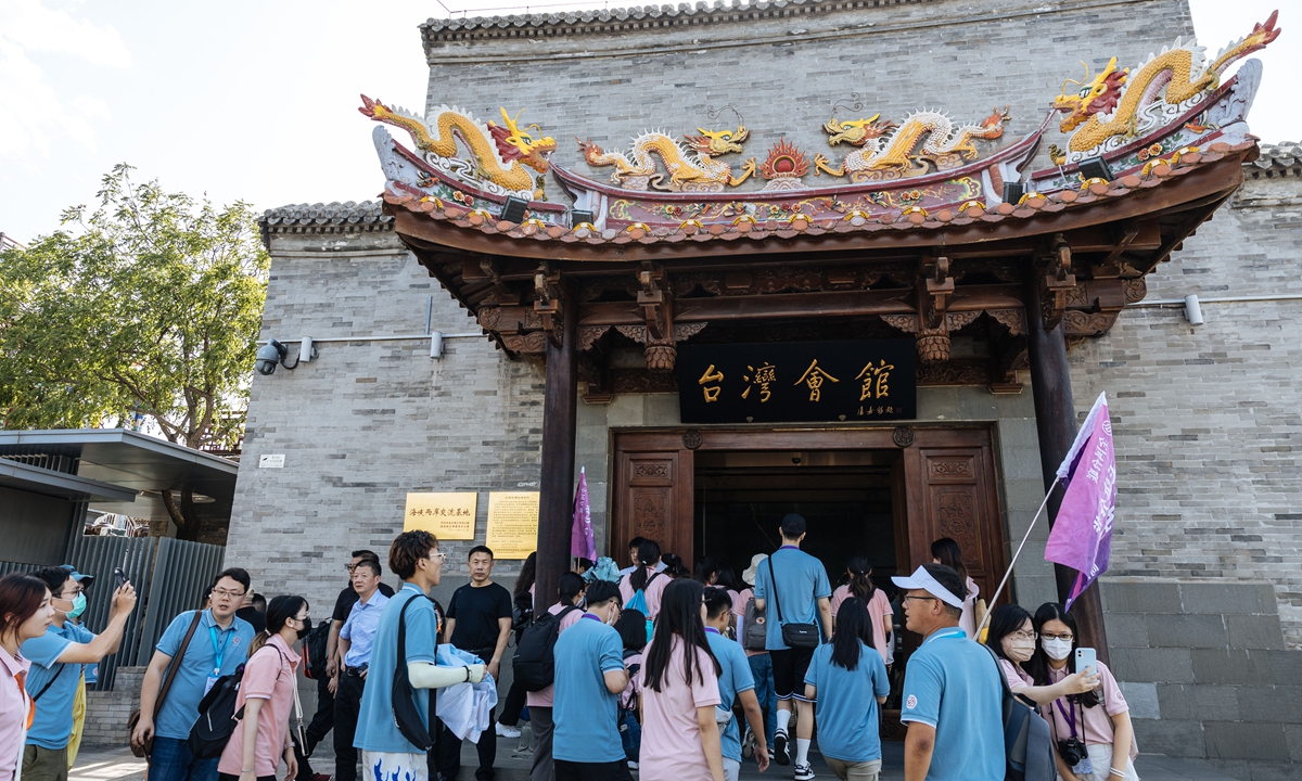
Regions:
[[[931,543],[953,538],[963,551],[969,577],[988,600],[1005,566],[995,458],[988,432],[965,435],[967,441],[957,446],[919,444],[905,449],[909,557],[914,568],[927,564]],[[1008,601],[1006,594],[1000,601]]]

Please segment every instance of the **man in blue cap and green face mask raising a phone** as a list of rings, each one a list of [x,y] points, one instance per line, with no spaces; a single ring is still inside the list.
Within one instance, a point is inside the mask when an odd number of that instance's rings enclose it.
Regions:
[[[68,742],[73,734],[73,700],[82,666],[99,664],[117,651],[122,630],[135,607],[130,583],[113,594],[108,626],[95,635],[70,618],[86,610],[86,594],[72,568],[47,566],[31,575],[49,588],[55,620],[46,634],[22,643],[20,652],[31,660],[27,694],[35,700],[36,717],[27,730],[22,754],[22,777],[27,781],[66,781]]]

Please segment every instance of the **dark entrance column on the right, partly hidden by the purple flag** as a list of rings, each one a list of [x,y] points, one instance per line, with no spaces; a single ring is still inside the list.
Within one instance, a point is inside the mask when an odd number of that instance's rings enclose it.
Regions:
[[[1066,362],[1066,338],[1062,324],[1052,331],[1044,331],[1040,315],[1040,285],[1035,279],[1029,285],[1030,295],[1026,307],[1027,359],[1031,368],[1031,392],[1035,397],[1035,428],[1040,440],[1040,470],[1044,474],[1044,488],[1053,484],[1057,467],[1066,458],[1075,440],[1075,406],[1072,401],[1072,374]],[[1062,504],[1062,488],[1055,488],[1046,513],[1049,528],[1057,519]],[[1072,586],[1075,583],[1075,570],[1053,565],[1057,579],[1059,601],[1066,603]],[[991,605],[993,607],[993,605]],[[1023,605],[1034,610],[1034,605]],[[1095,581],[1072,604],[1081,631],[1081,646],[1095,648],[1099,659],[1108,661],[1108,637],[1103,629],[1103,601],[1099,599],[1099,583]]]

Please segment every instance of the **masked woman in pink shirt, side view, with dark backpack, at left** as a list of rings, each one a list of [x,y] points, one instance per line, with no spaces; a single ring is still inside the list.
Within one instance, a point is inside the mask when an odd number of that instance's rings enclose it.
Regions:
[[[243,719],[221,752],[219,781],[276,781],[281,758],[289,768],[285,777],[298,774],[288,729],[298,669],[293,646],[311,629],[306,599],[277,596],[267,605],[267,629],[249,647],[236,699],[236,713],[243,708]]]

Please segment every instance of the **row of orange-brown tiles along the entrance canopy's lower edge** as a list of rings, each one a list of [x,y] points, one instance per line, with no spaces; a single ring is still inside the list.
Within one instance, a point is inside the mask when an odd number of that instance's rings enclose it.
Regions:
[[[962,226],[974,223],[1001,223],[1004,220],[1029,220],[1042,213],[1060,212],[1066,208],[1077,208],[1088,203],[1113,200],[1125,198],[1130,193],[1146,190],[1161,185],[1164,181],[1184,176],[1195,171],[1200,165],[1215,163],[1229,155],[1250,152],[1255,141],[1249,139],[1240,144],[1230,146],[1220,142],[1211,144],[1203,152],[1190,152],[1181,156],[1173,164],[1159,164],[1152,167],[1143,176],[1125,176],[1113,182],[1094,181],[1081,190],[1061,190],[1048,195],[1030,194],[1021,204],[1001,203],[995,208],[986,210],[974,203],[966,210],[940,210],[927,213],[923,210],[904,210],[885,212],[881,215],[865,215],[850,212],[842,219],[802,220],[797,216],[793,220],[751,220],[738,217],[734,223],[715,223],[702,225],[694,220],[684,221],[676,228],[646,226],[634,224],[625,229],[607,228],[596,230],[591,225],[581,224],[577,228],[562,228],[560,225],[547,225],[539,221],[525,221],[523,224],[499,221],[490,212],[483,210],[467,210],[456,203],[445,203],[437,198],[418,198],[406,193],[385,191],[384,202],[391,208],[405,208],[410,212],[427,215],[439,223],[448,223],[458,228],[478,230],[484,234],[505,234],[519,241],[536,242],[583,242],[587,245],[626,245],[638,242],[650,243],[676,243],[676,242],[704,242],[704,241],[737,241],[737,240],[763,240],[767,237],[792,238],[799,234],[820,236],[824,233],[876,233],[879,230],[936,230],[949,225]]]

